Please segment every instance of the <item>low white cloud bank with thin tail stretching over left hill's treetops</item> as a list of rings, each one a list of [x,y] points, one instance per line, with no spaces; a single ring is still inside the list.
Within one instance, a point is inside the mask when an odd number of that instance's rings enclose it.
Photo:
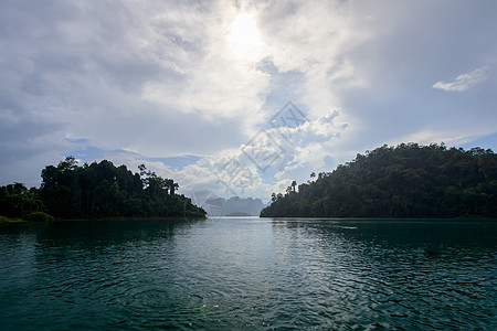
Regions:
[[[116,150],[99,151],[99,159],[127,164],[131,171],[144,163],[163,178],[173,178],[180,185],[179,193],[188,196],[209,191],[215,196],[257,196],[267,201],[271,193],[284,192],[292,180],[302,183],[308,180],[310,172],[329,171],[329,167],[336,166],[329,164],[329,159],[336,157],[335,146],[347,129],[347,124],[339,121],[339,114],[328,110],[315,120],[287,127],[285,131],[267,124],[239,148],[202,158],[183,156],[158,160]],[[187,159],[191,159],[191,163],[177,167],[178,160]]]

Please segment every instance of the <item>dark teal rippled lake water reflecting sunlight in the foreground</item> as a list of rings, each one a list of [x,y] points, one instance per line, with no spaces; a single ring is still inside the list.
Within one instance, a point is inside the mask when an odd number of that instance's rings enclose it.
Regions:
[[[0,226],[1,330],[497,330],[485,220]]]

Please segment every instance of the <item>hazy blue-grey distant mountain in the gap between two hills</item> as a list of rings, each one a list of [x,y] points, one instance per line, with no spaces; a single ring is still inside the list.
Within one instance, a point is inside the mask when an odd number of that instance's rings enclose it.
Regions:
[[[258,216],[262,209],[266,205],[261,199],[232,196],[228,200],[223,197],[208,199],[202,206],[208,212],[208,217],[212,217],[233,215]]]

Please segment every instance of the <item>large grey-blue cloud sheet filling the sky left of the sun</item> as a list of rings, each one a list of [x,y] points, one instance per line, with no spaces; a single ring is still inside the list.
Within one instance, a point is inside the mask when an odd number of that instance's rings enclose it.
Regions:
[[[261,121],[267,77],[228,56],[221,4],[2,2],[2,134],[149,157],[241,143]]]

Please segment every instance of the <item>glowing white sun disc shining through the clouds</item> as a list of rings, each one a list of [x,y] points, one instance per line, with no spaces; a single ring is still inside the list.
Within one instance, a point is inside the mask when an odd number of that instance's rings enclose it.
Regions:
[[[254,15],[240,13],[230,25],[230,46],[237,56],[255,61],[261,55],[262,39]]]

